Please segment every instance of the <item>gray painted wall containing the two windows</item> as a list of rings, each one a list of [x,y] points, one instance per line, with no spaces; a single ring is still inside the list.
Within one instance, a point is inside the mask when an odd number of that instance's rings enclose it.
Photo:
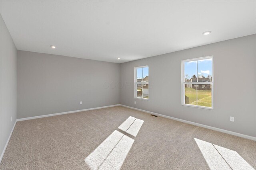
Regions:
[[[211,55],[214,110],[182,106],[181,61]],[[134,99],[134,67],[144,65],[148,101]],[[120,104],[256,137],[256,34],[122,63],[120,74]]]

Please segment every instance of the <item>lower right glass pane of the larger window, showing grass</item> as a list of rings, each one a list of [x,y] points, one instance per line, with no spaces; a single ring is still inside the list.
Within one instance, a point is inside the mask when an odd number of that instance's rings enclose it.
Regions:
[[[199,84],[197,88],[197,99],[198,106],[212,107],[212,85]]]

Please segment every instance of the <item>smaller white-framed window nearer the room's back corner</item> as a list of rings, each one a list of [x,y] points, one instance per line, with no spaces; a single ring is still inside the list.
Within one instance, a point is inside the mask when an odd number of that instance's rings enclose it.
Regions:
[[[135,98],[148,100],[148,66],[135,67],[134,85]]]

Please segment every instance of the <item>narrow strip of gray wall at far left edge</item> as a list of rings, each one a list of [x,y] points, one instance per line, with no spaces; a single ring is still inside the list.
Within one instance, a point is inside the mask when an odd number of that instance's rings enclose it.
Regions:
[[[16,121],[17,50],[2,16],[0,16],[0,32],[0,154],[2,154]]]

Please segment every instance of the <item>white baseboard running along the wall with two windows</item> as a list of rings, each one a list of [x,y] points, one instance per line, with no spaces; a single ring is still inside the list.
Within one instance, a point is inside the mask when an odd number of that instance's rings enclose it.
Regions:
[[[250,140],[256,141],[256,137],[244,135],[244,134],[241,134],[241,133],[236,133],[236,132],[232,132],[232,131],[227,131],[227,130],[220,129],[220,128],[217,128],[217,127],[212,127],[212,126],[203,125],[203,124],[200,124],[200,123],[195,123],[195,122],[192,122],[192,121],[187,121],[187,120],[178,119],[178,118],[175,118],[175,117],[170,117],[170,116],[166,116],[166,115],[161,115],[161,114],[154,113],[154,112],[151,112],[151,111],[146,111],[146,110],[142,110],[142,109],[137,109],[137,108],[135,108],[135,107],[125,106],[125,105],[122,105],[122,104],[120,104],[120,106],[127,107],[127,108],[134,109],[134,110],[138,110],[138,111],[143,111],[143,112],[146,112],[146,113],[149,113],[149,114],[152,114],[152,115],[158,115],[158,116],[165,117],[165,118],[168,118],[168,119],[173,119],[173,120],[181,121],[181,122],[188,123],[188,124],[191,124],[191,125],[196,125],[196,126],[204,127],[204,128],[206,128],[206,129],[211,129],[211,130],[214,130],[214,131],[219,131],[219,132],[223,132],[223,133],[228,133],[228,134],[230,134],[230,135],[234,135],[234,136],[238,136],[238,137],[243,137],[243,138],[246,138],[246,139],[250,139]]]

